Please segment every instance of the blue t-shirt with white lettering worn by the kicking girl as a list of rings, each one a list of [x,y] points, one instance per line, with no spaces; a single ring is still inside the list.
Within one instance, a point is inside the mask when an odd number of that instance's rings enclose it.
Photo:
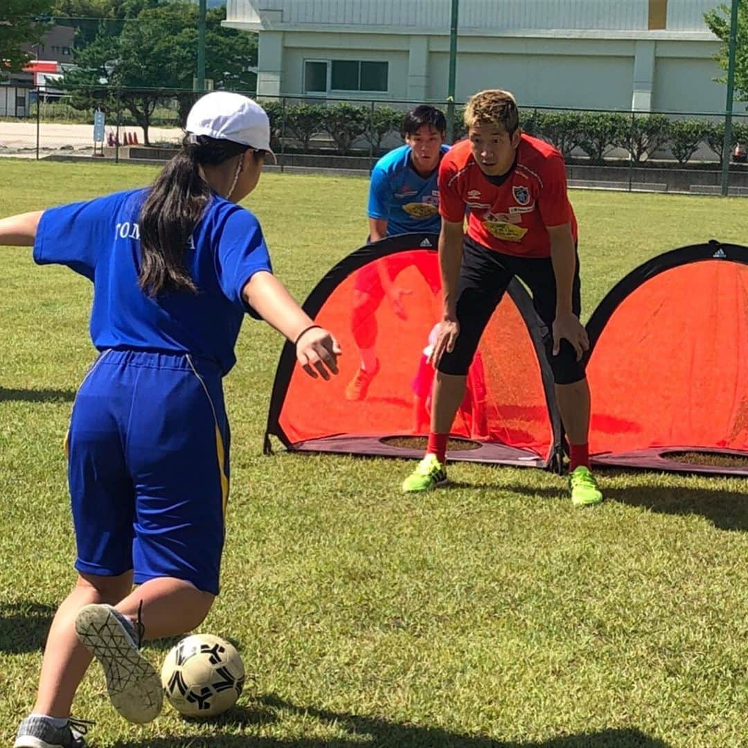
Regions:
[[[67,265],[93,281],[91,339],[99,351],[190,353],[215,361],[226,374],[236,363],[244,314],[253,313],[242,289],[256,272],[272,272],[260,224],[213,195],[184,258],[197,294],[150,298],[138,286],[138,218],[147,194],[129,190],[44,211],[34,261]]]

